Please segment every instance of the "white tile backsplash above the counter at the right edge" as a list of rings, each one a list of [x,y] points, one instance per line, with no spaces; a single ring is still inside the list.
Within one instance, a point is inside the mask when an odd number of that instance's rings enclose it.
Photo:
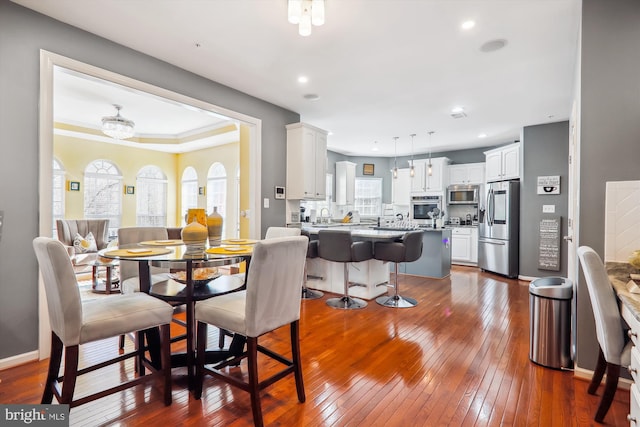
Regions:
[[[640,249],[640,181],[607,182],[605,261],[626,262]]]

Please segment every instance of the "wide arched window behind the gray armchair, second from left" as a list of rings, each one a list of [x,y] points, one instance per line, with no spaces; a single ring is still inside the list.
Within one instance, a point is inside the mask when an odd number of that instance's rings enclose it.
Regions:
[[[122,175],[108,160],[95,160],[84,170],[84,217],[108,218],[109,237],[118,234],[122,217]]]

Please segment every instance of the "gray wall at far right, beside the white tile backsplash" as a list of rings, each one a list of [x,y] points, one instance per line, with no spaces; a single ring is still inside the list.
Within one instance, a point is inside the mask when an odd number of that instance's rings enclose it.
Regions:
[[[601,257],[605,183],[640,179],[639,23],[637,0],[583,0],[579,244]],[[577,320],[577,362],[592,369],[598,344],[582,277]]]

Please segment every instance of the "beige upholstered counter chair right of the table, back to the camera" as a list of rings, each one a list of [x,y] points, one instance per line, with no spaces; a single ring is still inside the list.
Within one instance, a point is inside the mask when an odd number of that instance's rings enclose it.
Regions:
[[[234,292],[196,304],[198,324],[197,368],[194,395],[200,399],[205,374],[248,391],[251,395],[253,421],[262,426],[260,391],[275,381],[294,374],[298,400],[305,401],[300,365],[299,321],[300,283],[304,272],[308,239],[305,236],[265,239],[253,249],[246,290]],[[207,324],[235,332],[247,338],[247,350],[240,356],[215,366],[205,366]],[[291,359],[258,345],[258,338],[289,325]],[[258,379],[258,352],[285,365],[269,378]],[[225,368],[247,359],[248,380]]]

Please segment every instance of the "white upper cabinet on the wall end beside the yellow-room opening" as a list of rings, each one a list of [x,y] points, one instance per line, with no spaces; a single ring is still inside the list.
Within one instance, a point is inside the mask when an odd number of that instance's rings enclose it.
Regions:
[[[326,198],[327,132],[306,123],[287,125],[287,199]]]

